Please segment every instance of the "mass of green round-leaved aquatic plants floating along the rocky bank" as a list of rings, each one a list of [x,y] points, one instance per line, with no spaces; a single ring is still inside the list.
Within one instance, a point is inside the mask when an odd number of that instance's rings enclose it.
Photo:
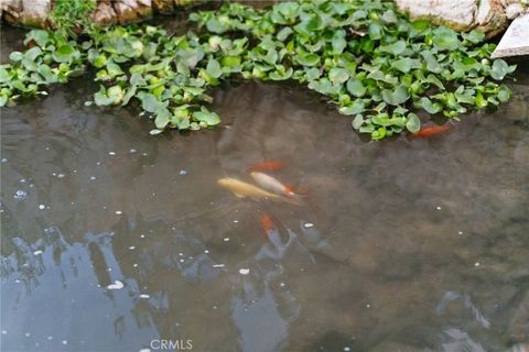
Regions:
[[[239,3],[190,15],[197,33],[156,26],[85,29],[77,40],[32,31],[34,47],[0,66],[0,106],[43,94],[86,67],[100,81],[98,106],[138,101],[166,128],[216,125],[207,95],[226,79],[295,80],[325,96],[374,140],[417,133],[419,111],[457,120],[510,97],[498,82],[516,66],[490,59],[483,34],[410,21],[389,1],[290,1],[257,10]]]

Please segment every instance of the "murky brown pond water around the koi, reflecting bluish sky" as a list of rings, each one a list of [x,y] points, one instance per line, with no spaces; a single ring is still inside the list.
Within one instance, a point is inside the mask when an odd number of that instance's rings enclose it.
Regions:
[[[20,32],[3,31],[6,53]],[[222,127],[188,134],[85,107],[86,78],[3,109],[1,350],[529,342],[527,68],[511,88],[444,134],[384,142],[310,91],[258,82],[216,90]],[[302,206],[217,185],[263,161]]]

